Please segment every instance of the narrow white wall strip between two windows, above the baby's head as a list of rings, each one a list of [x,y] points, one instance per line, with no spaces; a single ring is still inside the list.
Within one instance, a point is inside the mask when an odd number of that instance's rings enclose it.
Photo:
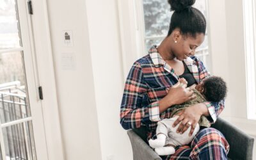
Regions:
[[[221,76],[227,83],[228,93],[225,109],[220,116],[230,116],[230,79],[228,76],[230,63],[228,57],[226,8],[225,1],[209,1],[209,47],[212,58],[212,75]]]

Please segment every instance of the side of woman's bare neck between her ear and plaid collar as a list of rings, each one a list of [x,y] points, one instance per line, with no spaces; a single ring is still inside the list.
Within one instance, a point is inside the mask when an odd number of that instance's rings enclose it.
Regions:
[[[163,42],[161,42],[161,44],[157,47],[157,52],[159,52],[163,60],[172,61],[175,60],[175,56],[172,50],[170,49],[171,42],[168,38],[169,36],[164,38]]]

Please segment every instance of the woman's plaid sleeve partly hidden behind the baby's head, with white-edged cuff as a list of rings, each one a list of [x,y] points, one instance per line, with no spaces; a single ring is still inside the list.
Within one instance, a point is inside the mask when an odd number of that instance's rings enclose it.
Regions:
[[[198,65],[198,71],[199,71],[199,76],[200,76],[200,81],[204,80],[205,78],[210,77],[210,73],[206,70],[204,67],[204,63],[200,61],[197,58],[196,61]],[[224,109],[224,102],[225,100],[221,100],[220,102],[204,102],[205,106],[207,106],[207,109],[210,113],[210,116],[207,117],[207,119],[213,124],[216,122],[218,116],[220,115],[221,111]]]

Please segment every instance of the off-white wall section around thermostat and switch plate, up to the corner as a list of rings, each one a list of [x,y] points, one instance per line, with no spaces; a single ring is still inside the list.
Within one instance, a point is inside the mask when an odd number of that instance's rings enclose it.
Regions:
[[[101,159],[85,1],[47,3],[65,157]],[[74,47],[63,45],[63,30],[72,30]],[[74,53],[73,70],[63,70],[63,52]]]

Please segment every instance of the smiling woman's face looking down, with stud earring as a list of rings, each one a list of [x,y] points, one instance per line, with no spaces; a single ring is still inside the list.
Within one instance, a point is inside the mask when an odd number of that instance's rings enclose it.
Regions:
[[[174,56],[182,61],[189,56],[195,55],[195,49],[204,42],[205,35],[203,33],[193,36],[184,36],[178,33],[173,36],[173,41],[177,40],[177,43],[173,42],[172,52]]]

